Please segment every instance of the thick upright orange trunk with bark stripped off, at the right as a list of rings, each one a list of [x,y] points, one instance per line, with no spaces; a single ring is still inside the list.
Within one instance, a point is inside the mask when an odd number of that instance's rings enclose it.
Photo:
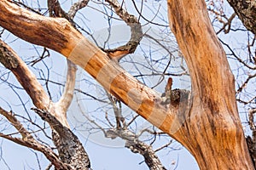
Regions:
[[[203,0],[168,0],[169,23],[189,67],[192,106],[174,134],[201,169],[254,169],[238,116],[234,77]]]

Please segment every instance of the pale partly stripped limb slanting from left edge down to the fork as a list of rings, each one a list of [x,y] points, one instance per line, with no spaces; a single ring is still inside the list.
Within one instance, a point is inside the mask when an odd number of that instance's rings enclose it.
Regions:
[[[25,62],[20,59],[15,51],[2,40],[0,40],[0,62],[14,73],[15,77],[20,82],[21,86],[26,90],[26,93],[30,96],[33,104],[38,109],[50,111],[51,114],[56,116],[57,119],[63,123],[63,125],[69,127],[66,112],[61,108],[61,105],[63,105],[63,99],[61,99],[60,105],[59,103],[53,103],[49,99],[49,96],[45,93],[42,85],[38,82],[37,77],[32,73],[32,71],[29,70]],[[74,87],[74,84],[71,84],[71,86]],[[66,88],[67,91],[73,91],[72,89],[68,88]],[[69,96],[72,98],[73,94],[71,95],[70,93],[71,92],[68,92],[66,94],[69,94]],[[67,99],[71,100],[70,97]],[[69,103],[70,102],[71,101],[69,101]],[[67,105],[63,105],[66,107],[66,111],[68,105],[68,103]]]

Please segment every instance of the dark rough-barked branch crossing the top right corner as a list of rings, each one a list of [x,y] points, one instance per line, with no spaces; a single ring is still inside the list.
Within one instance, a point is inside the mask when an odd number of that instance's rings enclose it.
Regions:
[[[228,0],[237,16],[247,28],[256,35],[256,1],[255,0]]]

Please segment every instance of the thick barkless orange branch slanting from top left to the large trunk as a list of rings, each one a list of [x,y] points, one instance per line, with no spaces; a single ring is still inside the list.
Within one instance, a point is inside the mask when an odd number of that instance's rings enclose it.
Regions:
[[[172,122],[177,109],[160,105],[160,94],[138,82],[95,44],[76,31],[65,19],[33,14],[8,0],[0,1],[0,26],[27,42],[42,45],[63,54],[95,77],[109,92],[169,133],[166,116]]]

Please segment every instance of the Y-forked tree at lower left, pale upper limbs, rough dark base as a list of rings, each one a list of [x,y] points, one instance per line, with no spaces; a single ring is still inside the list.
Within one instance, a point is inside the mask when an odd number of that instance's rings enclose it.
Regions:
[[[0,136],[12,140],[17,144],[32,148],[33,150],[41,151],[49,161],[52,162],[55,169],[89,169],[90,160],[83,145],[79,142],[77,136],[67,128],[69,126],[66,111],[73,98],[76,66],[69,63],[67,75],[68,84],[65,86],[64,94],[61,96],[61,99],[57,103],[53,103],[47,94],[45,94],[44,88],[38,82],[35,75],[28,69],[24,61],[22,61],[20,57],[15,54],[13,49],[9,48],[2,40],[0,40],[0,62],[15,74],[21,86],[26,89],[27,94],[31,97],[34,105],[44,110],[35,111],[37,111],[38,115],[45,121],[49,122],[50,127],[52,127],[54,133],[53,141],[59,151],[59,156],[54,155],[53,150],[39,144],[32,138],[32,135],[27,137],[29,133],[21,131],[22,129],[24,131],[25,128],[19,129],[20,134],[25,136],[25,139],[24,137],[23,139],[8,138],[8,136],[5,137],[2,134],[0,134]],[[51,115],[46,110],[49,110]],[[11,116],[9,117],[12,118]],[[9,122],[13,123],[14,120],[14,118],[9,119]],[[21,123],[19,126],[21,126]]]

